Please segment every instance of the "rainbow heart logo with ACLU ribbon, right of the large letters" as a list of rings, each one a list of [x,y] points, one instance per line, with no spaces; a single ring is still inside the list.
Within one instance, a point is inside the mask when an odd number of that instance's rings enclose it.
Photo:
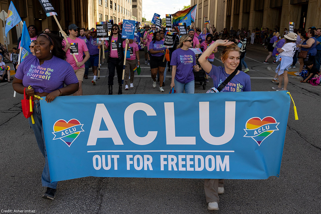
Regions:
[[[271,116],[264,117],[263,119],[252,117],[245,124],[244,131],[246,134],[243,137],[252,138],[260,146],[268,136],[274,131],[279,130],[278,124],[280,123],[277,123]]]

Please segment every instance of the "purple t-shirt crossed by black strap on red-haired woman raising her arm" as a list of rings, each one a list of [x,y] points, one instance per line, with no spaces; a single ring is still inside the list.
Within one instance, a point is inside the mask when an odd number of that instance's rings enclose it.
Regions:
[[[230,74],[225,72],[225,68],[222,66],[212,65],[212,69],[208,74],[213,80],[215,88],[218,88],[223,81],[226,80]],[[235,75],[229,83],[221,90],[221,92],[240,92],[240,91],[251,91],[251,80],[250,76],[240,71],[239,74]]]

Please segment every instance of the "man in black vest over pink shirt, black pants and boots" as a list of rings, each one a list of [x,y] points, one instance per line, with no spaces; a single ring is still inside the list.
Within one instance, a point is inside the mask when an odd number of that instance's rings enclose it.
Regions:
[[[122,94],[122,80],[123,80],[123,63],[124,63],[124,48],[123,42],[125,39],[121,38],[119,33],[119,26],[113,24],[111,27],[111,35],[108,37],[107,47],[108,48],[108,95],[113,94],[113,85],[115,77],[115,69],[118,78],[118,94]]]

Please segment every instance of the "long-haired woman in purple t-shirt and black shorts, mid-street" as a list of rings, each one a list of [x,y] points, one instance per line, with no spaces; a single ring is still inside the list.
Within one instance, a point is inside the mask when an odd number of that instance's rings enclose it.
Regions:
[[[166,48],[163,47],[164,41],[161,40],[160,32],[156,31],[153,39],[149,45],[149,52],[151,53],[151,72],[153,79],[153,88],[156,88],[156,75],[160,74],[160,92],[164,92],[163,81],[164,71],[167,61],[163,61]]]

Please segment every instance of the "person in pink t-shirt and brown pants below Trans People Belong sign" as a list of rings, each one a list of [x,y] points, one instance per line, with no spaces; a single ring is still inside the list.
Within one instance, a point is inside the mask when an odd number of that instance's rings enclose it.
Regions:
[[[123,48],[125,49],[127,43],[127,54],[130,55],[130,58],[128,59],[128,55],[126,55],[126,65],[125,65],[125,90],[128,90],[128,83],[129,83],[129,75],[130,75],[130,88],[134,88],[134,68],[136,67],[136,58],[138,65],[140,65],[139,62],[139,48],[138,45],[134,42],[133,39],[128,39],[126,41],[123,41]],[[128,53],[129,51],[129,53]]]

